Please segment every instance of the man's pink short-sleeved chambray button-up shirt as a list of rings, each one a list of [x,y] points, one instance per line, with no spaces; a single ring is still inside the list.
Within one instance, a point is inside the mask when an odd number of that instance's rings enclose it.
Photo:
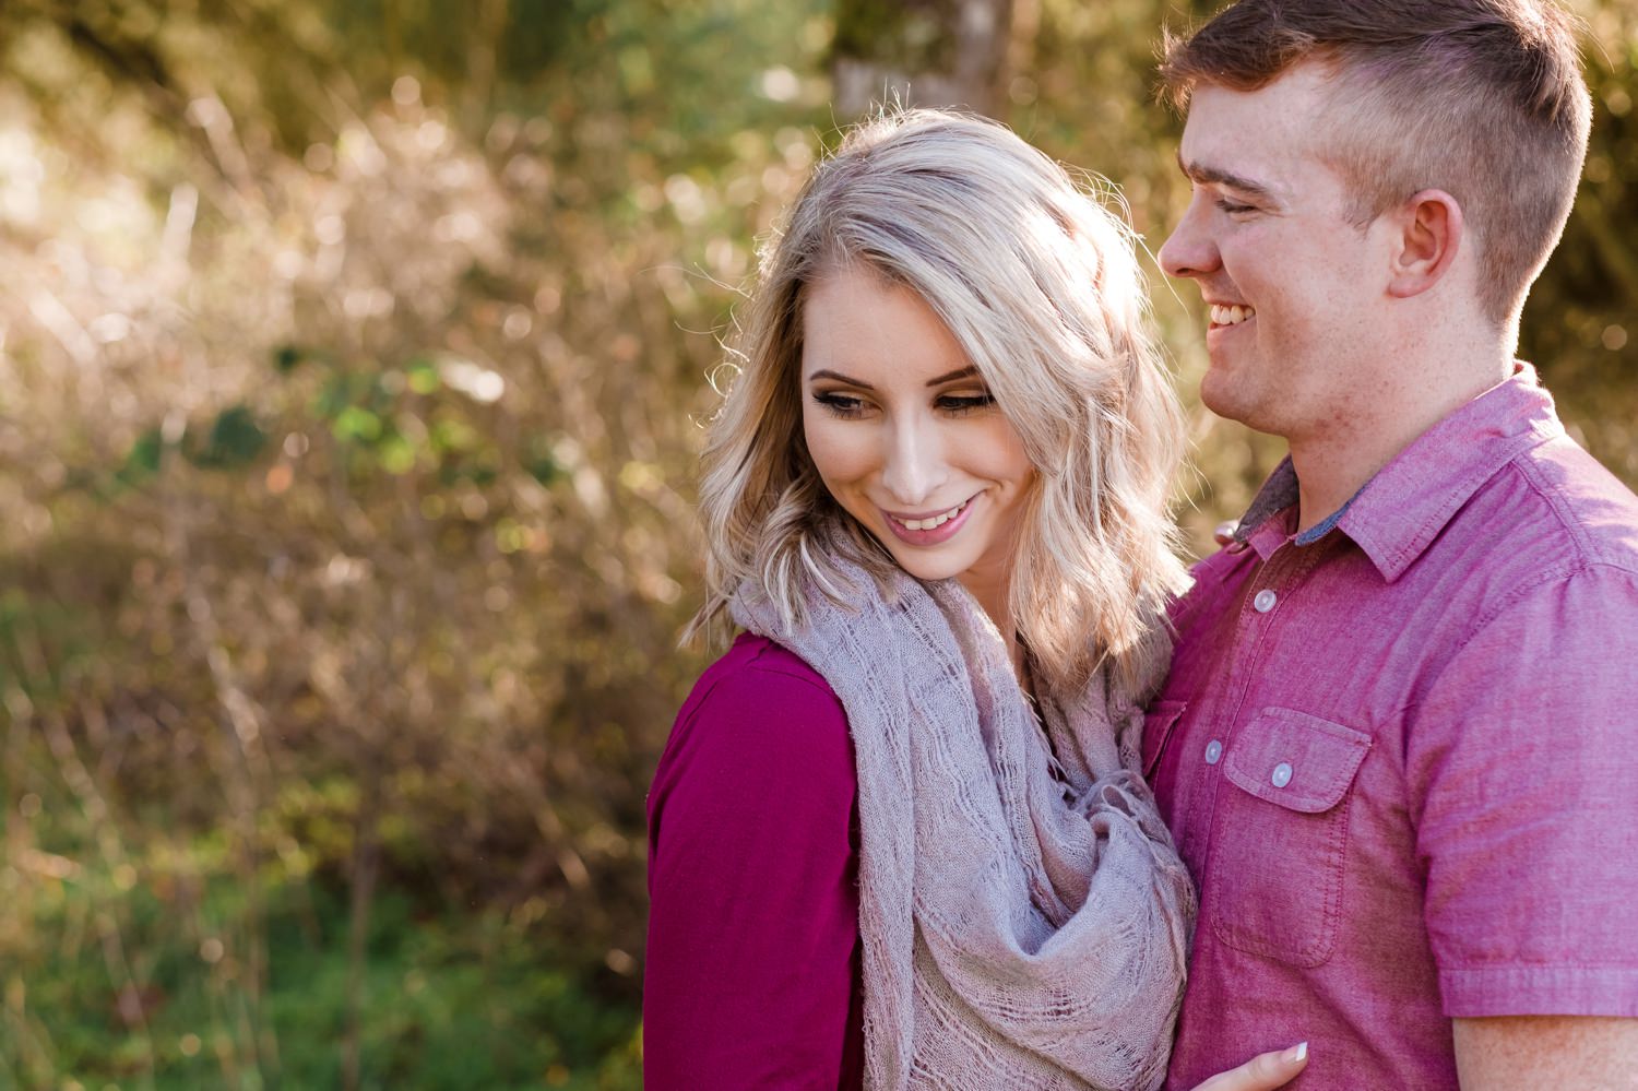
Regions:
[[[1145,770],[1201,885],[1168,1086],[1455,1088],[1451,1017],[1638,1016],[1638,498],[1515,375],[1178,603]]]

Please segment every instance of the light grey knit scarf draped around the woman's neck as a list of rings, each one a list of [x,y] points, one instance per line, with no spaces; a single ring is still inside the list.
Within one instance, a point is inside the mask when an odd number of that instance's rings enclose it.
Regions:
[[[958,583],[885,596],[839,567],[850,606],[809,595],[798,631],[749,588],[732,613],[847,711],[867,1086],[1158,1088],[1194,890],[1138,775],[1142,709],[1099,675],[1038,695],[1037,724]]]

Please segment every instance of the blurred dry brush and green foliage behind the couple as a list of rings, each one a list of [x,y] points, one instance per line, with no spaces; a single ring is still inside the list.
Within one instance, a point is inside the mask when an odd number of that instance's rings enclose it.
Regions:
[[[1184,201],[1153,0],[1038,0],[1009,120]],[[1194,5],[1194,13],[1206,5]],[[1638,480],[1638,2],[1527,315]],[[691,480],[832,5],[0,10],[0,1091],[634,1088]],[[1192,290],[1155,278],[1181,383]],[[1278,447],[1196,413],[1197,547]]]

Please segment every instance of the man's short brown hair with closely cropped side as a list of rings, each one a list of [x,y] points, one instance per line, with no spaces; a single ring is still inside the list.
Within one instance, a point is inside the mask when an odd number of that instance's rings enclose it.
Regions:
[[[1332,69],[1315,151],[1366,224],[1420,190],[1461,205],[1479,301],[1505,324],[1558,246],[1587,154],[1592,102],[1576,21],[1551,0],[1240,0],[1166,38],[1161,95],[1256,90],[1291,66]]]

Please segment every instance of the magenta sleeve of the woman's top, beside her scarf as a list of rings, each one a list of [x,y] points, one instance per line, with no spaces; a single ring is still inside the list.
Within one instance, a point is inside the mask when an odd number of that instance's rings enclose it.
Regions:
[[[649,794],[650,1091],[858,1086],[855,793],[834,693],[740,637],[695,686]]]

